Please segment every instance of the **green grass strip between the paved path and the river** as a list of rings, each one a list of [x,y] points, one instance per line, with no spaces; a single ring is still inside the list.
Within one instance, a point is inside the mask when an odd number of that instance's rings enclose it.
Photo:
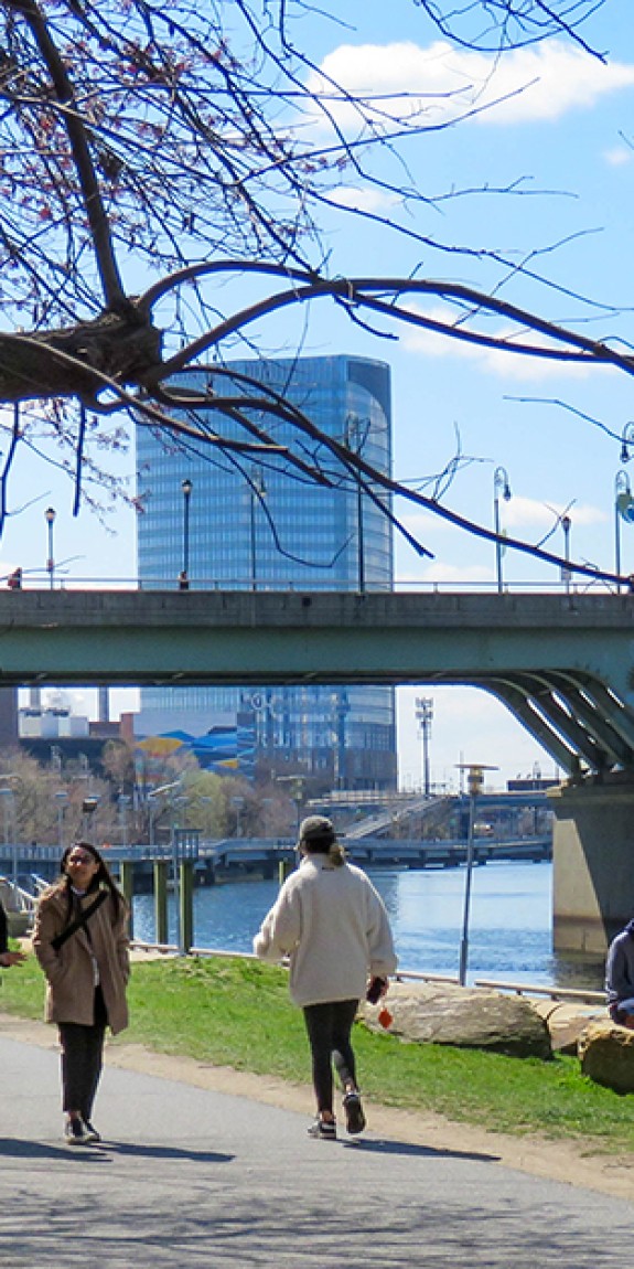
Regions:
[[[3,973],[0,1009],[41,1018],[43,978],[34,961]],[[249,959],[169,959],[136,964],[131,1027],[122,1039],[212,1065],[309,1081],[302,1014],[281,970]],[[586,1138],[590,1150],[634,1150],[634,1096],[581,1075],[576,1058],[553,1062],[444,1046],[402,1044],[355,1028],[360,1080],[377,1103],[437,1110],[514,1133]]]

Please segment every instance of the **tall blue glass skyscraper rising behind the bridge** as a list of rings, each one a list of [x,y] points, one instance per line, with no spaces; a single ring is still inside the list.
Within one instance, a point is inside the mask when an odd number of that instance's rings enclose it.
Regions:
[[[382,473],[392,468],[389,367],[356,357],[231,362],[183,373],[180,387],[222,396],[279,393],[328,438],[359,452]],[[284,418],[243,409],[280,453],[221,453],[137,426],[138,576],[143,586],[176,586],[188,566],[194,588],[391,590],[392,527],[380,489],[359,489],[345,466]],[[231,416],[197,409],[198,425],[249,438]],[[317,483],[294,466],[318,468]],[[185,508],[183,481],[191,482]],[[382,505],[377,505],[373,495]],[[186,538],[186,541],[185,541]],[[186,561],[185,561],[186,552]],[[392,789],[397,783],[394,693],[388,687],[143,688],[138,730],[202,735],[236,726],[252,736],[252,769],[270,778],[303,774],[321,788]],[[249,750],[245,746],[245,753]]]

